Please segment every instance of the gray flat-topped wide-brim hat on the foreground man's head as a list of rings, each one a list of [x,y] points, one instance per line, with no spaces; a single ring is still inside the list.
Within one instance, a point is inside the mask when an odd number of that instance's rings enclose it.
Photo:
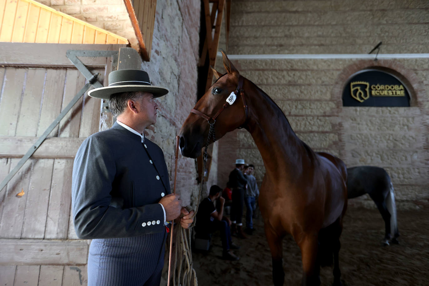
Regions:
[[[140,69],[118,69],[109,73],[109,86],[88,91],[88,95],[101,99],[109,99],[114,93],[125,91],[146,91],[160,97],[169,90],[166,87],[151,85],[147,72]]]

